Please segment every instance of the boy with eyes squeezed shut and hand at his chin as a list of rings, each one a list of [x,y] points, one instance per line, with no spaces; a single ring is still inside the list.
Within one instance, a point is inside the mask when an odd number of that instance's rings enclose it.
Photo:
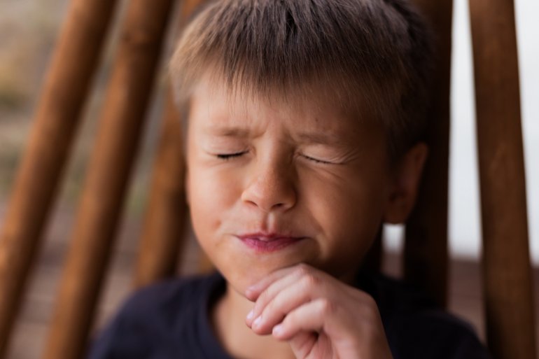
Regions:
[[[221,0],[171,62],[193,228],[218,273],[132,297],[90,358],[488,358],[360,270],[412,210],[428,36],[404,0]]]

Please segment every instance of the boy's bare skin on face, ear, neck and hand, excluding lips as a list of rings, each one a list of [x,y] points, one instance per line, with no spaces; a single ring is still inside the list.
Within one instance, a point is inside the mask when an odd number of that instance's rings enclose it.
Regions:
[[[412,209],[426,147],[391,167],[367,111],[228,95],[209,78],[193,93],[186,182],[197,239],[228,282],[212,309],[225,350],[391,358],[376,304],[346,283],[381,222],[400,223]],[[297,240],[260,250],[242,240],[253,233]]]

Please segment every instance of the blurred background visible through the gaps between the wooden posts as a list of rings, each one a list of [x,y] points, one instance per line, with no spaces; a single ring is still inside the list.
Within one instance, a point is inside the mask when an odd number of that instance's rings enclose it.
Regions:
[[[59,27],[69,0],[0,0],[0,227],[8,206],[18,163],[25,151],[32,113],[38,99],[43,76],[55,47]],[[126,1],[122,1],[125,3]],[[521,74],[521,110],[526,160],[528,223],[531,257],[539,267],[539,2],[515,0],[519,65]],[[480,335],[482,307],[477,258],[481,255],[481,220],[475,150],[475,108],[472,80],[472,55],[468,3],[454,0],[454,53],[451,84],[451,157],[449,175],[449,241],[453,265],[451,269],[450,309],[468,318]],[[123,11],[118,11],[121,17]],[[87,159],[101,111],[106,76],[114,57],[118,29],[109,38],[102,57],[101,70],[94,81],[94,92],[87,101],[85,120],[78,129],[78,138],[50,218],[39,262],[31,276],[29,295],[18,321],[8,358],[38,358],[50,321],[54,293],[62,271],[67,241],[78,196],[85,176]],[[162,80],[156,92],[162,92]],[[158,97],[155,97],[158,98]],[[102,325],[123,301],[130,290],[132,263],[137,249],[139,230],[147,202],[151,164],[158,139],[161,101],[153,101],[146,122],[144,142],[134,169],[129,198],[125,206],[120,240],[113,259],[112,275],[99,309],[97,327]],[[399,273],[402,248],[398,226],[388,227],[385,245],[388,250],[386,272]],[[181,271],[190,273],[196,244],[190,243]],[[535,283],[539,286],[538,270]],[[535,292],[538,302],[538,293]],[[536,309],[537,310],[537,309]],[[536,321],[538,323],[539,321]],[[538,331],[539,332],[539,331]]]

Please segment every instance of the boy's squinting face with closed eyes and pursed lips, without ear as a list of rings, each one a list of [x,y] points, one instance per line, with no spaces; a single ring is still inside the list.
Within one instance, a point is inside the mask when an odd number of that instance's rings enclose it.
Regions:
[[[350,279],[377,233],[390,176],[379,125],[330,105],[191,99],[188,199],[195,234],[233,288],[304,262]]]

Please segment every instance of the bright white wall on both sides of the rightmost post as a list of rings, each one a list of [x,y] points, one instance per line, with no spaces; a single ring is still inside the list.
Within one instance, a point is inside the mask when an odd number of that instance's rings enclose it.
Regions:
[[[539,2],[516,0],[522,130],[531,256],[539,264]],[[480,253],[475,105],[468,1],[454,1],[449,241],[454,255]]]

